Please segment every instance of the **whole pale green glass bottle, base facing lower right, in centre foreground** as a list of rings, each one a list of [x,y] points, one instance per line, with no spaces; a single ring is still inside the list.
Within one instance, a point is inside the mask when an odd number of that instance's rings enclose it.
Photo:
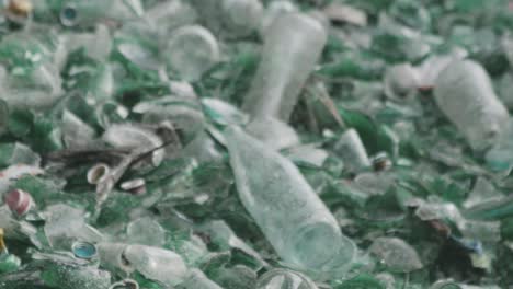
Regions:
[[[226,139],[240,199],[285,262],[319,271],[351,262],[353,242],[288,159],[239,127]]]

